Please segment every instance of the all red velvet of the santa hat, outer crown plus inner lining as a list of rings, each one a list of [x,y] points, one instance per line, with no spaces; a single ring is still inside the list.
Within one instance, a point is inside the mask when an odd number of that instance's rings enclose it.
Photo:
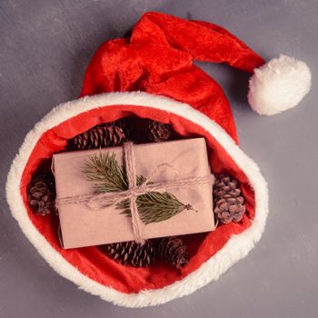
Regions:
[[[233,115],[222,89],[193,64],[194,59],[224,62],[247,72],[263,65],[259,55],[220,26],[148,13],[135,25],[131,38],[114,39],[101,45],[87,67],[81,95],[141,90],[168,96],[207,114],[237,142]],[[209,234],[187,235],[185,241],[191,260],[181,272],[164,263],[147,269],[123,266],[109,259],[102,247],[63,250],[57,240],[55,217],[35,215],[27,204],[26,187],[32,175],[39,166],[49,165],[52,154],[63,151],[68,139],[96,124],[129,114],[173,124],[177,133],[184,137],[204,136],[213,172],[233,174],[242,184],[247,207],[243,221],[220,225]],[[43,134],[25,166],[21,194],[37,230],[67,262],[94,281],[124,293],[161,288],[192,273],[219,251],[231,235],[242,233],[251,224],[255,205],[246,175],[214,136],[199,124],[154,108],[129,105],[102,107],[79,114]]]

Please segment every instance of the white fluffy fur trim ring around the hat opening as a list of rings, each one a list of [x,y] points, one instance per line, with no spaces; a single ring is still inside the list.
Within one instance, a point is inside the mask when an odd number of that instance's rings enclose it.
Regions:
[[[45,240],[27,216],[25,205],[20,194],[20,181],[25,169],[25,164],[42,134],[46,130],[54,127],[90,109],[114,104],[133,104],[150,106],[155,109],[164,110],[172,114],[180,115],[186,119],[200,124],[216,140],[222,144],[227,153],[240,166],[243,173],[249,178],[255,194],[255,217],[252,225],[242,234],[234,235],[224,245],[224,248],[215,253],[207,262],[202,264],[193,273],[190,273],[183,280],[172,283],[162,289],[145,290],[140,293],[120,293],[111,287],[96,283],[83,273],[80,273],[73,265],[68,263],[60,253]],[[57,273],[74,282],[79,288],[88,293],[99,295],[102,299],[126,307],[144,307],[166,303],[174,298],[194,293],[205,284],[217,280],[234,263],[242,259],[253,249],[254,244],[259,241],[268,214],[268,192],[267,185],[259,171],[258,166],[243,151],[234,144],[229,134],[224,129],[209,119],[204,114],[194,110],[188,104],[176,102],[172,99],[146,94],[141,92],[134,93],[111,93],[99,94],[91,97],[83,97],[73,102],[56,106],[49,114],[37,124],[26,137],[22,144],[19,154],[11,166],[6,183],[6,197],[12,210],[12,214],[20,225],[31,243],[35,245],[38,252],[45,258]]]

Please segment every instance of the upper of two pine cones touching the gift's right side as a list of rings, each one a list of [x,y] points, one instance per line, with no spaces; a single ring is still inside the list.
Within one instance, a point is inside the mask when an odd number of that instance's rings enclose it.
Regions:
[[[237,181],[228,174],[220,174],[214,182],[214,197],[218,199],[234,198],[241,194]]]

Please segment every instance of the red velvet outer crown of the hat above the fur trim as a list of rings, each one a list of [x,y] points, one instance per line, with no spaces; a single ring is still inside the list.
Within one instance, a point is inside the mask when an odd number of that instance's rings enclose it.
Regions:
[[[223,90],[194,60],[224,62],[246,72],[264,63],[220,26],[147,13],[131,38],[100,46],[87,67],[81,96],[137,90],[168,96],[208,115],[237,141]]]

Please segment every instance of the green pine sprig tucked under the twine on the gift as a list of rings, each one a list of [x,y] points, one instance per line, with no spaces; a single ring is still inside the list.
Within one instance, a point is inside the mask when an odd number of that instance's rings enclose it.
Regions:
[[[89,157],[84,165],[84,174],[89,181],[94,181],[94,190],[98,194],[120,192],[128,189],[127,175],[121,167],[115,154],[99,153]],[[144,184],[144,175],[137,175],[137,185]],[[162,222],[179,214],[185,209],[194,210],[190,204],[182,204],[174,194],[168,192],[149,192],[138,195],[136,198],[140,219],[144,224]],[[115,205],[116,209],[123,210],[122,214],[131,217],[130,200],[125,199]]]

